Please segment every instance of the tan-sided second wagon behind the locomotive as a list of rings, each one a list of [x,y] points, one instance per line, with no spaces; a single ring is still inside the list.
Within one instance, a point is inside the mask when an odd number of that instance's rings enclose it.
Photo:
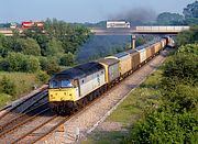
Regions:
[[[125,52],[119,53],[119,54],[117,54],[114,56],[106,57],[106,59],[107,58],[119,59],[119,71],[120,71],[121,76],[132,69],[132,67],[131,67],[132,66],[131,65],[131,56],[130,56],[130,54],[128,54]]]

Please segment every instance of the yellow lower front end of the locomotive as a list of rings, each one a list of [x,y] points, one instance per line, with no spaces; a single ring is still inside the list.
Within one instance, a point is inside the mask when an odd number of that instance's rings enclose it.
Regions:
[[[48,89],[48,101],[76,101],[75,88]]]

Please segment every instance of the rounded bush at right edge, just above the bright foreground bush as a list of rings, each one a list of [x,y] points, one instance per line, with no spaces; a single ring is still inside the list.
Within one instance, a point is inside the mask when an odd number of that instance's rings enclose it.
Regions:
[[[176,54],[164,66],[163,86],[169,89],[169,84],[186,82],[196,85],[198,82],[198,56],[193,54]]]

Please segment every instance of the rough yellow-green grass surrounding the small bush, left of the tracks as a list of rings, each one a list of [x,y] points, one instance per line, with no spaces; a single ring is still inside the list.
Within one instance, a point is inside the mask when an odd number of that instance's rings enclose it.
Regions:
[[[25,93],[34,89],[34,86],[41,86],[41,81],[36,79],[35,74],[26,73],[0,73],[0,80],[2,81],[3,77],[9,79],[14,86],[14,95],[8,95],[3,91],[0,91],[0,108],[8,104],[10,101],[15,100]],[[2,86],[1,86],[2,87]]]

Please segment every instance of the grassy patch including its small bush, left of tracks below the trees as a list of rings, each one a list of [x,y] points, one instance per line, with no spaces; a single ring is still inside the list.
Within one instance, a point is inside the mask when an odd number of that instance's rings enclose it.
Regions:
[[[43,73],[43,71],[42,71]],[[46,78],[42,81],[38,77],[40,74],[28,74],[28,73],[0,73],[0,107],[8,102],[15,100],[35,87],[40,87],[43,82],[46,82],[48,76],[42,75],[42,78]]]

